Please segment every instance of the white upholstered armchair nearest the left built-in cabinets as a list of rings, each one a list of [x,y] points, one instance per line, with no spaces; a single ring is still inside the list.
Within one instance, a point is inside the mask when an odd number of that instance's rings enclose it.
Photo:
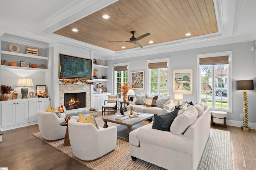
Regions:
[[[59,118],[55,113],[38,111],[38,127],[45,140],[54,141],[65,137],[67,127],[60,125],[65,120],[65,114],[62,113],[61,116],[62,118]]]

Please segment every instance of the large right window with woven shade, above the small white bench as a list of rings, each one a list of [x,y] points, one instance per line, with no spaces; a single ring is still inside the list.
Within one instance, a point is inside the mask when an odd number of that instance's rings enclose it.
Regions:
[[[200,101],[206,101],[207,105],[214,110],[232,111],[232,78],[229,59],[231,54],[199,58],[200,89],[198,96]]]

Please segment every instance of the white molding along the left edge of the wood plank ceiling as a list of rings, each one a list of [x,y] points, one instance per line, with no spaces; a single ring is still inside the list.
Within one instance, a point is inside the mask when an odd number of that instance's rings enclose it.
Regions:
[[[34,35],[48,35],[54,31],[80,20],[118,0],[75,0],[54,16],[47,18],[40,25],[31,29]]]

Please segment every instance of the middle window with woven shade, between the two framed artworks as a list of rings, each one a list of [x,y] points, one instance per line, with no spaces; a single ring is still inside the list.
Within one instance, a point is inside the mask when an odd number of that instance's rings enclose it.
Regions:
[[[159,60],[157,60],[159,61]],[[152,62],[152,61],[151,61]],[[168,95],[168,62],[148,63],[149,94]]]

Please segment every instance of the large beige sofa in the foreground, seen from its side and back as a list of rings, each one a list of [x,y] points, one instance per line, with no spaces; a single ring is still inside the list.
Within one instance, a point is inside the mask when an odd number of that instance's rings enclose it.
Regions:
[[[196,170],[210,135],[210,108],[205,102],[188,106],[175,117],[170,131],[153,123],[130,132],[130,155],[168,170]]]

